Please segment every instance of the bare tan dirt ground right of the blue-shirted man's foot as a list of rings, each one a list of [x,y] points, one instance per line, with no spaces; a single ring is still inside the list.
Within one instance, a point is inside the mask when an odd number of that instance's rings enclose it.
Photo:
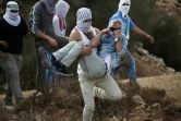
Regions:
[[[167,96],[176,98],[177,105],[181,106],[181,75],[161,75],[137,78],[141,85],[149,88],[162,88]],[[128,80],[123,80],[128,82]]]

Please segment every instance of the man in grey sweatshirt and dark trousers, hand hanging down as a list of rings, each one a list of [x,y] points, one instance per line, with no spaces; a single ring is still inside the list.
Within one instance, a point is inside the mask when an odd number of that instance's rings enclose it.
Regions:
[[[29,13],[29,27],[35,38],[35,48],[37,52],[38,70],[37,70],[37,90],[44,88],[45,85],[45,68],[41,64],[41,59],[38,55],[39,47],[44,47],[48,52],[52,51],[52,48],[58,49],[65,46],[69,43],[68,37],[58,36],[55,33],[52,26],[52,19],[56,14],[56,4],[59,0],[40,0],[31,10]],[[59,66],[59,64],[57,65]],[[63,74],[69,74],[64,68],[57,70]]]

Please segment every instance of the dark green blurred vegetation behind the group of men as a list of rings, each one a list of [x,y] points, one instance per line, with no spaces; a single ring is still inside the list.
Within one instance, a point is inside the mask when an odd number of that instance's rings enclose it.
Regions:
[[[4,13],[5,4],[10,0],[1,1],[1,16]],[[20,4],[20,14],[28,20],[31,8],[39,0],[15,0]],[[65,0],[70,4],[70,11],[67,16],[69,36],[71,29],[75,26],[75,13],[79,8],[90,8],[93,12],[93,26],[102,29],[107,27],[108,21],[118,10],[119,0]],[[156,11],[154,0],[132,0],[130,16],[134,23],[155,37],[155,44],[131,34],[129,49],[137,41],[144,44],[144,48],[150,53],[162,58],[168,66],[176,71],[181,71],[181,28],[176,16]],[[76,73],[76,65],[70,68]],[[76,75],[76,74],[75,74]],[[24,40],[23,68],[21,82],[23,89],[35,88],[36,77],[36,53],[34,40]],[[75,76],[76,77],[76,76]]]

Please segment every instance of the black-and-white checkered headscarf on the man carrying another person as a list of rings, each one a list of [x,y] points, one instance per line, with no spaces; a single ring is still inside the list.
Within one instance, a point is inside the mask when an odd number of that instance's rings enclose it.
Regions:
[[[88,33],[92,22],[84,22],[92,20],[92,11],[88,8],[81,8],[76,12],[76,27],[83,33]]]

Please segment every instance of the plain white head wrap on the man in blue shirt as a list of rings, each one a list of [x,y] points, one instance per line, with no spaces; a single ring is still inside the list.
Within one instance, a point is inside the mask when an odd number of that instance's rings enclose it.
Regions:
[[[123,5],[123,3],[125,3],[126,5]],[[119,7],[118,11],[121,11],[122,16],[126,17],[131,7],[131,0],[120,0],[120,3],[118,7]]]

